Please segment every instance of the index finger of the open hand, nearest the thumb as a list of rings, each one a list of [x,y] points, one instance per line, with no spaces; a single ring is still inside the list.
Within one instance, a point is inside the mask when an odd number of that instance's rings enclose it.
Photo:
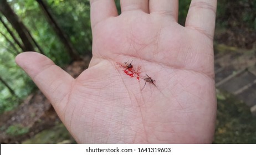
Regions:
[[[109,17],[118,16],[114,0],[90,0],[90,9],[92,28]]]

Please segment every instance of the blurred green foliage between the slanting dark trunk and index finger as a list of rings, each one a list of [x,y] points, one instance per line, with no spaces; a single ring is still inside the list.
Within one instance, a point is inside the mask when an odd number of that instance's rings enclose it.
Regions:
[[[81,55],[91,52],[90,5],[87,1],[48,0],[48,6]],[[59,20],[62,19],[62,20]]]

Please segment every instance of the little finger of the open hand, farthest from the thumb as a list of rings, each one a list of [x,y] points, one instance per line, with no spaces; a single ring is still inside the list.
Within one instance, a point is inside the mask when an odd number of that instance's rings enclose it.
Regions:
[[[192,0],[185,27],[196,29],[213,39],[216,8],[217,0]]]

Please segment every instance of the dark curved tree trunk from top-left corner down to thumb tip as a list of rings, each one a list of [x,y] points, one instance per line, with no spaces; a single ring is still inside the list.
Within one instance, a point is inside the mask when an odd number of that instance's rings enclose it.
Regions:
[[[28,34],[25,25],[19,20],[17,14],[14,13],[6,0],[0,0],[0,12],[7,18],[12,24],[12,27],[16,29],[19,37],[21,37],[25,51],[34,51],[32,39]]]

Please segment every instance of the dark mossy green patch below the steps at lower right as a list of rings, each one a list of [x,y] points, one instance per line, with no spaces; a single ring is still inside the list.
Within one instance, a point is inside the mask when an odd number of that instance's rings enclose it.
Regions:
[[[214,143],[256,143],[256,120],[249,107],[234,96],[219,92]]]

